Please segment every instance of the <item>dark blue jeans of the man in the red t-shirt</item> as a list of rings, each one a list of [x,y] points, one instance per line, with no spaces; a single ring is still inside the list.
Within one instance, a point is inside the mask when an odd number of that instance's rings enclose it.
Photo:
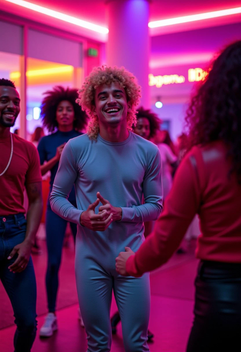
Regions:
[[[24,271],[13,274],[8,269],[17,254],[7,259],[14,246],[25,239],[26,219],[23,214],[0,216],[0,279],[10,298],[17,329],[14,351],[29,352],[36,337],[36,280],[32,258]]]

